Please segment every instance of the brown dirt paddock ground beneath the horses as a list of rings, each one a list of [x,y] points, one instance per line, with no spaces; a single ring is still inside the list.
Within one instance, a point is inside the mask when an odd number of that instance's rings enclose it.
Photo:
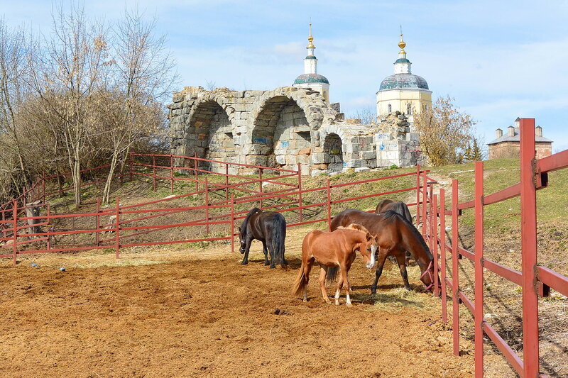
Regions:
[[[293,253],[290,269],[268,269],[258,252],[239,265],[238,253],[161,251],[119,262],[111,254],[0,262],[0,376],[473,376],[471,345],[452,355],[439,300],[420,292],[417,270],[410,296],[398,289],[398,269],[386,269],[371,296],[373,272],[358,257],[346,308],[344,293],[341,306],[321,300],[319,269],[310,301],[290,295]]]

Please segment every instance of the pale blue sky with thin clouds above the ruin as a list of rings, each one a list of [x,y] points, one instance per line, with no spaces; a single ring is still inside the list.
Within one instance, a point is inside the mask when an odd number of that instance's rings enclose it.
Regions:
[[[568,148],[568,1],[85,1],[113,21],[138,4],[168,35],[183,86],[273,89],[303,73],[312,18],[318,72],[347,116],[375,104],[402,24],[413,73],[449,95],[486,142],[517,116]],[[50,30],[51,1],[0,0],[11,26]]]

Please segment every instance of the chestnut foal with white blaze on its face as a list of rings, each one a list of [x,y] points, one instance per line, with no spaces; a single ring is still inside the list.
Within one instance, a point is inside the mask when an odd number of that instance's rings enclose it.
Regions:
[[[367,267],[372,268],[375,265],[376,248],[376,238],[359,225],[351,224],[349,228],[338,228],[332,232],[310,231],[305,235],[302,243],[302,266],[297,275],[293,293],[296,296],[303,294],[304,301],[307,301],[307,283],[310,281],[310,271],[314,262],[317,262],[321,268],[320,287],[322,288],[322,296],[327,304],[331,304],[332,302],[329,301],[325,290],[325,282],[326,278],[327,282],[330,283],[335,277],[327,277],[327,272],[329,267],[339,266],[342,275],[337,282],[335,304],[339,305],[339,293],[345,283],[346,305],[351,307],[347,273],[355,260],[356,250],[359,250],[363,255]],[[334,270],[334,274],[337,274],[337,269]]]

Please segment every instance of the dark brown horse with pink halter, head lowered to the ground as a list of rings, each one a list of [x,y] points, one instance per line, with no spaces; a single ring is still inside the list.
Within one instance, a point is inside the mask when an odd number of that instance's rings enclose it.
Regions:
[[[405,251],[410,251],[414,256],[422,275],[420,280],[425,284],[426,289],[434,285],[434,265],[432,253],[426,245],[424,238],[415,226],[394,211],[385,211],[380,214],[366,213],[356,209],[346,209],[334,216],[332,230],[339,226],[349,226],[350,224],[361,224],[366,227],[371,235],[378,236],[378,258],[375,281],[371,285],[371,293],[377,290],[378,279],[383,273],[383,265],[387,256],[396,257],[400,275],[403,277],[404,286],[410,290],[408,283],[408,273],[405,265]],[[439,282],[439,279],[438,279]]]

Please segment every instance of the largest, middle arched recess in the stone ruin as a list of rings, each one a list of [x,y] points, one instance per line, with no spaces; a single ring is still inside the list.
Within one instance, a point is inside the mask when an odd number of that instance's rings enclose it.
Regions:
[[[304,101],[290,93],[294,92],[272,91],[260,99],[251,118],[247,163],[286,169],[296,169],[298,162],[311,165],[315,125],[309,120],[315,118],[306,113]]]

